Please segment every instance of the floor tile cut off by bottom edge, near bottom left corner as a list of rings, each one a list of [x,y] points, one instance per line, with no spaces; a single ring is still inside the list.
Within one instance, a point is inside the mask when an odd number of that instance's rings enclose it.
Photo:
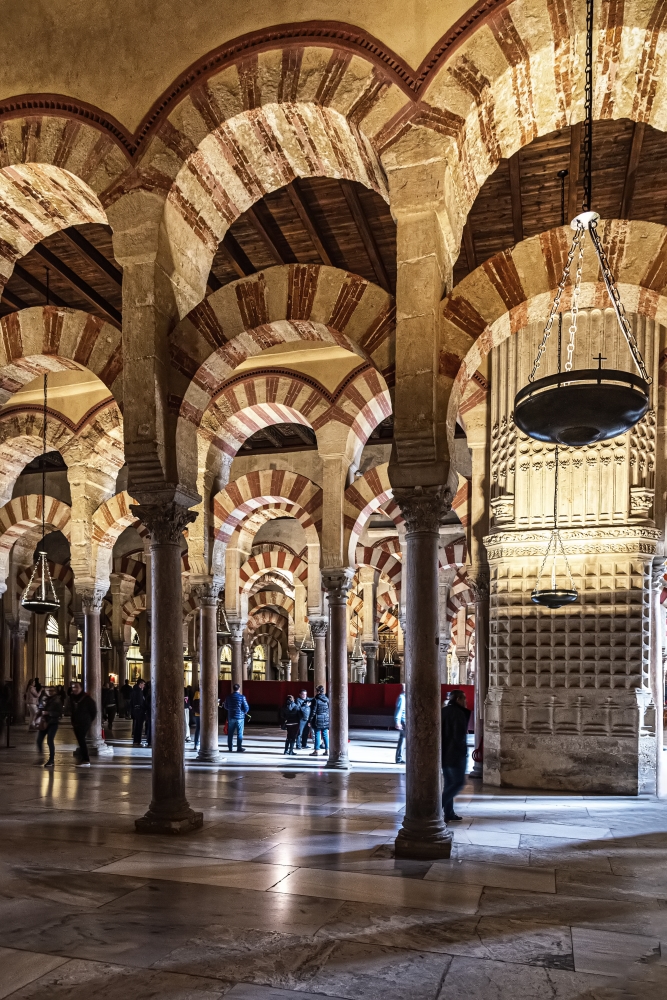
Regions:
[[[66,961],[12,995],[12,1000],[218,1000],[231,983],[105,962]]]

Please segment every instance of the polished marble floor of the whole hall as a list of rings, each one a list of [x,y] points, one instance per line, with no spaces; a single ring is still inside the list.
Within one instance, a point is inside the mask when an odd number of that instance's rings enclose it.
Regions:
[[[395,861],[395,736],[349,774],[275,730],[201,765],[202,831],[147,837],[148,750],[0,749],[0,998],[665,1000],[667,803],[470,782],[452,858]]]

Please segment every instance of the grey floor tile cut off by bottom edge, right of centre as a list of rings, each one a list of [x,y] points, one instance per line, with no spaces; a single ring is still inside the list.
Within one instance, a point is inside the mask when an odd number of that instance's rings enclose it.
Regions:
[[[560,969],[454,958],[438,1000],[602,1000],[603,977]]]

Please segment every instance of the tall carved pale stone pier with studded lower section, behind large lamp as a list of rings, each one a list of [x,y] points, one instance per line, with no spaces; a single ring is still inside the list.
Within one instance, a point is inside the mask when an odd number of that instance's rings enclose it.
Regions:
[[[631,316],[656,384],[662,328]],[[563,343],[570,316],[563,316]],[[600,348],[630,369],[611,310],[581,310],[575,367]],[[489,692],[484,779],[580,792],[655,791],[655,709],[649,689],[655,402],[628,434],[560,448],[558,522],[577,602],[531,602],[554,521],[555,448],[514,425],[542,335],[533,325],[494,348],[491,372]],[[557,327],[537,377],[556,371]],[[578,360],[581,359],[581,360]],[[558,583],[565,582],[564,560]]]

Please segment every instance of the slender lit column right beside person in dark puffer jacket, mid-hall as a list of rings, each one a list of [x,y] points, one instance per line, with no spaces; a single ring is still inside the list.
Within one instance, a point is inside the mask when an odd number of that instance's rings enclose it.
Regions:
[[[347,770],[350,766],[347,717],[347,598],[353,575],[354,570],[349,567],[322,571],[322,584],[329,598],[331,649],[329,685],[331,724],[329,759],[326,766],[337,770]],[[317,687],[317,681],[315,686]]]

